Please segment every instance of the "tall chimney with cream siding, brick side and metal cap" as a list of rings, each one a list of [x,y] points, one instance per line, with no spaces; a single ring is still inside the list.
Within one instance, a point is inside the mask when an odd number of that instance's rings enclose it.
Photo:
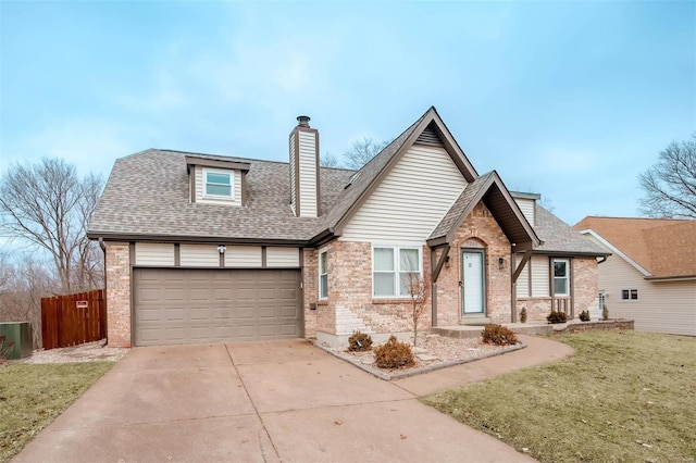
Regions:
[[[316,217],[319,195],[319,130],[309,126],[309,116],[298,116],[290,133],[290,208],[298,217]]]

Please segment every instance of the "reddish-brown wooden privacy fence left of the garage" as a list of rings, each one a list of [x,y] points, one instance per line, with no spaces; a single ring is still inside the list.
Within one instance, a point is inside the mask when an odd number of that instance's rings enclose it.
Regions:
[[[76,346],[107,337],[103,289],[41,298],[44,349]]]

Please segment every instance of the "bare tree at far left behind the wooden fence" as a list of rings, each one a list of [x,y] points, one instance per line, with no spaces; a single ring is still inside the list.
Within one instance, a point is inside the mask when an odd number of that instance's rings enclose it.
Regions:
[[[87,239],[89,217],[103,183],[61,159],[15,164],[0,179],[0,233],[48,251],[63,293],[95,283],[94,243]]]

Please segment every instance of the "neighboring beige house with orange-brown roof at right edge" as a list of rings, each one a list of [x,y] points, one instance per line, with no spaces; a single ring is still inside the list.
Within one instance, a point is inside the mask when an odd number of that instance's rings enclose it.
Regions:
[[[588,216],[576,230],[611,255],[599,295],[635,329],[696,336],[696,221]]]

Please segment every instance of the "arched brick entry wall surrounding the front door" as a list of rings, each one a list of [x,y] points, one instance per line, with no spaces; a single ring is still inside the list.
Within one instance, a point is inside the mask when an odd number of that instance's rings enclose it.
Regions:
[[[456,325],[461,316],[461,249],[485,252],[486,315],[493,323],[510,322],[510,241],[483,202],[476,204],[457,233],[437,280],[437,325]],[[442,251],[440,251],[442,252]],[[438,252],[439,255],[439,252]],[[499,268],[498,259],[504,259]]]

